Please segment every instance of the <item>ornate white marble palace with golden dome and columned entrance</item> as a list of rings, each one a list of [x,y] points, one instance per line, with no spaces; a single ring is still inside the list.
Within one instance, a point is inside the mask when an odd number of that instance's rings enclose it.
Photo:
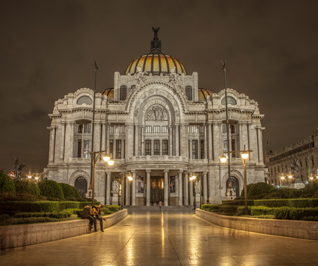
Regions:
[[[252,151],[247,184],[268,182],[258,103],[233,88],[200,88],[198,73],[187,73],[176,57],[162,53],[158,31],[153,28],[149,37],[149,53],[128,59],[124,73],[114,73],[113,88],[79,88],[55,102],[46,178],[90,197],[91,151],[105,151],[115,163],[110,166],[102,156],[96,160],[94,195],[102,204],[119,204],[122,198],[130,206],[160,200],[179,207],[198,199],[221,203],[228,191],[235,198],[244,188],[241,156],[228,152],[230,142],[230,151]],[[223,154],[230,158],[230,178],[227,163],[220,161]],[[127,173],[131,181],[123,178]],[[192,175],[199,178],[190,180]]]

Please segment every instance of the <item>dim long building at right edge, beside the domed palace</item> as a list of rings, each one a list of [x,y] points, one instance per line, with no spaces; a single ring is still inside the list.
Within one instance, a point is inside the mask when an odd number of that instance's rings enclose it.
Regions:
[[[312,136],[300,140],[278,151],[265,154],[266,167],[270,174],[270,184],[280,185],[281,176],[292,173],[292,181],[284,180],[282,184],[295,181],[307,182],[317,176],[318,169],[318,129]]]

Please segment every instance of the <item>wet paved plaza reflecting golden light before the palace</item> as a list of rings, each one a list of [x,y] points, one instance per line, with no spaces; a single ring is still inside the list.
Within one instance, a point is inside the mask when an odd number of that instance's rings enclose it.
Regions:
[[[219,227],[194,211],[129,210],[104,233],[2,250],[0,265],[318,265],[318,242]]]

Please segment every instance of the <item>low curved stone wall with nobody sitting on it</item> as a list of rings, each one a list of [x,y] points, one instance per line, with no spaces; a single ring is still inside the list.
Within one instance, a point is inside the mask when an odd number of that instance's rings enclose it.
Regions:
[[[215,225],[276,236],[318,240],[318,222],[222,216],[196,209],[196,216]]]

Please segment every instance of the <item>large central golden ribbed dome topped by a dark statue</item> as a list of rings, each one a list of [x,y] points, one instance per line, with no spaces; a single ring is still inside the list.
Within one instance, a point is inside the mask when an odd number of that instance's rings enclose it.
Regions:
[[[161,53],[161,41],[158,39],[158,31],[160,28],[152,28],[155,36],[151,41],[151,50],[147,55],[142,55],[133,59],[125,71],[125,75],[129,73],[134,75],[137,69],[140,68],[142,71],[152,73],[153,75],[169,75],[173,68],[176,68],[176,73],[181,75],[187,75],[187,71],[183,64],[178,61],[175,57],[165,55]]]

